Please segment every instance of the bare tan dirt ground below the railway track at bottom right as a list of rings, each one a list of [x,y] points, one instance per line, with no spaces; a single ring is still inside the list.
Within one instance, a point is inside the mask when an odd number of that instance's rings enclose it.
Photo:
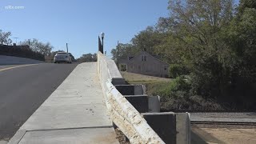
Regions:
[[[191,126],[191,144],[255,144],[256,128]]]

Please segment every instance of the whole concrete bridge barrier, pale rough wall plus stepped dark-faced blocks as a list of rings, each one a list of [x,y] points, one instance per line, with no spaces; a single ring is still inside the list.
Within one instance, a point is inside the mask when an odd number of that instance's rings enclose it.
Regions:
[[[190,144],[189,114],[160,113],[159,96],[127,85],[115,62],[98,52],[98,76],[112,122],[131,143]]]

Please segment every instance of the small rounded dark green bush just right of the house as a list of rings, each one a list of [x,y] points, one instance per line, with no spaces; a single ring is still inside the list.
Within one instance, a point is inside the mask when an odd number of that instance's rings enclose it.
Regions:
[[[186,66],[178,65],[178,64],[171,64],[169,67],[169,77],[170,78],[177,78],[183,74],[188,74],[188,70]]]

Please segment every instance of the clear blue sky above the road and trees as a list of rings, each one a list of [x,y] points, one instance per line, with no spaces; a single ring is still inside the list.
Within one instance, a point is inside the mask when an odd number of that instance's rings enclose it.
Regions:
[[[38,38],[54,50],[66,50],[78,58],[98,51],[98,35],[105,33],[107,55],[117,42],[130,39],[167,17],[168,0],[0,0],[0,29],[12,32],[18,42]],[[6,10],[5,6],[24,6]]]

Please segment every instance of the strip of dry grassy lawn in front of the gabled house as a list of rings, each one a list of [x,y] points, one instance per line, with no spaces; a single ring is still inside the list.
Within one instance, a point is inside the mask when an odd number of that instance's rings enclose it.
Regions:
[[[121,72],[122,78],[126,79],[126,82],[130,84],[145,84],[151,82],[170,82],[170,78],[160,78],[160,77],[153,77],[149,75],[142,75],[142,74],[134,74],[128,72]]]

